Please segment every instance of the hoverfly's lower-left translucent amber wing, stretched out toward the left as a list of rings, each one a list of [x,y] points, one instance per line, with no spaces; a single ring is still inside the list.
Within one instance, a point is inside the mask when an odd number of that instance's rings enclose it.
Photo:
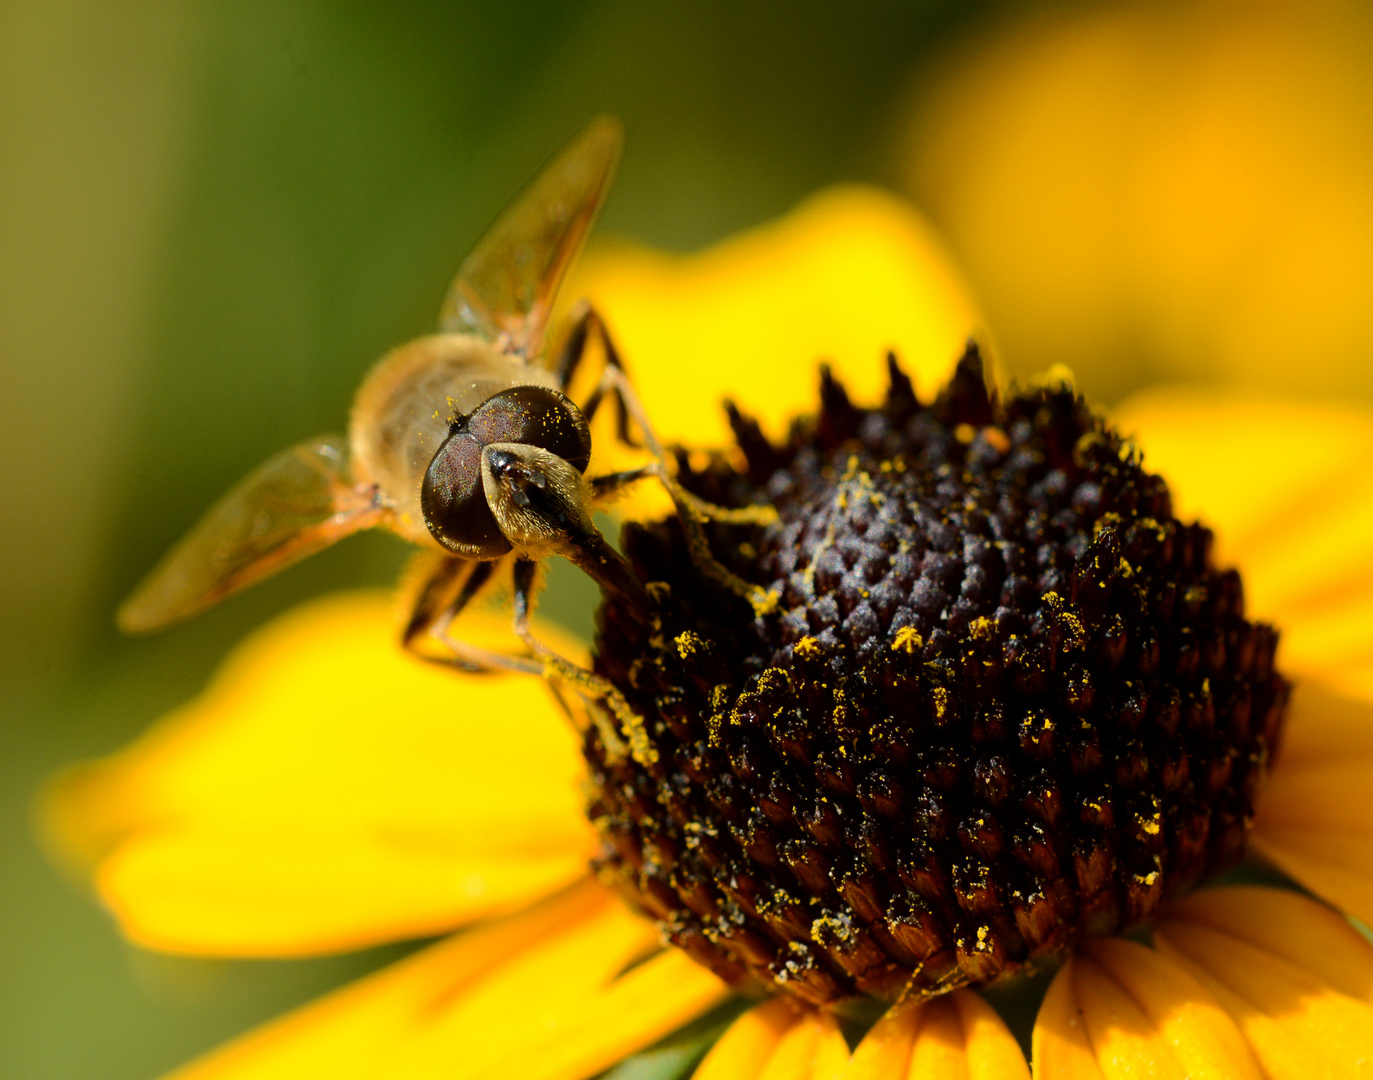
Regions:
[[[346,447],[321,435],[250,472],[124,601],[119,629],[140,634],[187,619],[375,524],[383,510],[354,484]]]

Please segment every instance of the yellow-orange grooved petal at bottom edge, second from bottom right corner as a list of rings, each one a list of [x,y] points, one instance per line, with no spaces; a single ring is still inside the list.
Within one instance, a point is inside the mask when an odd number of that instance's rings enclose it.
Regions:
[[[1081,1021],[1081,1026],[1074,1024]],[[1120,939],[1089,941],[1035,1021],[1035,1076],[1260,1076],[1234,1022],[1193,976]],[[1042,1057],[1042,1059],[1041,1059]]]

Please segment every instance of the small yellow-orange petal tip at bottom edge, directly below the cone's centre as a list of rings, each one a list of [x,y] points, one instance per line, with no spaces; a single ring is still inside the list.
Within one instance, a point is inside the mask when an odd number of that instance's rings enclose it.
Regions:
[[[864,1036],[844,1080],[1028,1080],[1001,1017],[972,991],[895,1006]]]

